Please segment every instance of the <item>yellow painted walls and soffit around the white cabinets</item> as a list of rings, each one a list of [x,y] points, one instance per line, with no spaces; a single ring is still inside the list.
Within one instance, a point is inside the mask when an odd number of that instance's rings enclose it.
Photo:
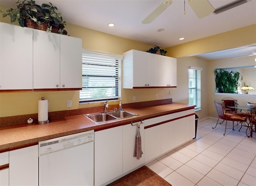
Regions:
[[[6,10],[7,8],[0,7],[0,9]],[[0,16],[0,22],[10,23],[10,18],[2,18],[2,16]],[[226,32],[224,33],[224,35],[219,34],[216,36],[190,42],[188,44],[182,44],[176,47],[170,47],[166,49],[168,51],[168,53],[166,54],[167,56],[182,57],[179,58],[177,61],[177,88],[122,89],[122,103],[134,102],[132,99],[134,95],[136,96],[135,102],[155,100],[156,94],[159,95],[159,99],[162,99],[160,96],[162,95],[162,93],[164,94],[164,99],[172,98],[174,102],[188,103],[188,66],[202,67],[204,69],[202,71],[202,86],[204,85],[204,89],[206,89],[206,87],[209,87],[207,85],[207,69],[209,64],[207,60],[203,60],[197,57],[184,56],[202,53],[206,51],[216,51],[223,49],[224,47],[232,48],[239,45],[244,46],[256,43],[255,27],[256,25],[249,26],[239,30]],[[110,34],[104,34],[102,32],[90,30],[72,24],[68,24],[66,26],[66,30],[68,31],[68,34],[70,36],[82,38],[82,47],[84,49],[122,54],[123,52],[130,49],[147,51],[149,48],[152,47],[148,44],[128,40],[126,38],[120,38]],[[238,33],[239,39],[237,37]],[[252,37],[250,40],[248,40],[249,35]],[[223,38],[224,36],[227,36],[228,39]],[[212,41],[212,43],[210,42],[211,47],[206,47],[206,44],[209,44],[209,41]],[[169,90],[172,91],[172,95],[169,95]],[[209,94],[207,94],[206,92],[202,93],[202,111],[198,112],[201,119],[208,116],[207,104]],[[103,103],[90,103],[79,105],[78,91],[0,93],[0,117],[37,113],[38,100],[41,99],[41,97],[45,97],[49,100],[49,112],[103,105]],[[66,107],[67,100],[72,100],[72,107]],[[110,103],[110,105],[111,104],[118,104],[118,102],[115,101],[114,103]]]

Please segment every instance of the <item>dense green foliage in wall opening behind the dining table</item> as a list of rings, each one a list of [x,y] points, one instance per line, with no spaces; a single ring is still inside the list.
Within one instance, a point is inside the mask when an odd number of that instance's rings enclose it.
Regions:
[[[215,69],[216,92],[219,93],[238,93],[237,89],[240,86],[239,79],[242,76],[239,72],[226,71],[224,69]]]

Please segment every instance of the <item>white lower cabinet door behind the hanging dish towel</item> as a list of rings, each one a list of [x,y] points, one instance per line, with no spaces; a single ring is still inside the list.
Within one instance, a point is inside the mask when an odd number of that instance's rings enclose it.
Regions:
[[[136,140],[137,124],[140,124],[140,136],[142,144],[142,157],[137,160],[133,157]],[[134,126],[132,126],[134,125]],[[133,123],[123,126],[123,173],[126,173],[144,163],[144,123]]]

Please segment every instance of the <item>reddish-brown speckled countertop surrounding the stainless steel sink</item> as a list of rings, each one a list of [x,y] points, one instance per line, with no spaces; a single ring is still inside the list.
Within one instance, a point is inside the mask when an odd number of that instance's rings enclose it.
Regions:
[[[71,135],[89,130],[101,130],[119,125],[125,125],[131,121],[139,121],[193,109],[193,105],[182,103],[171,103],[166,105],[127,108],[125,111],[138,114],[138,116],[108,121],[101,124],[94,124],[83,115],[53,119],[50,123],[38,124],[17,124],[0,127],[0,150],[20,145],[26,145],[42,140]]]

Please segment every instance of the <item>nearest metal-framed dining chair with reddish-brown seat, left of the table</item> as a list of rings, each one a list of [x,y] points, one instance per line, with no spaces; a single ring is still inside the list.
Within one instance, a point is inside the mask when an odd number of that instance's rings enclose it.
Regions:
[[[214,105],[216,107],[216,111],[217,111],[218,116],[219,116],[218,121],[216,123],[216,126],[218,124],[222,124],[224,121],[226,121],[226,123],[225,123],[225,132],[224,132],[223,135],[226,134],[226,129],[232,129],[234,131],[234,122],[235,121],[237,121],[237,125],[241,124],[241,128],[242,128],[242,126],[247,127],[247,129],[246,129],[246,135],[247,135],[247,130],[248,129],[250,130],[250,127],[249,127],[248,123],[246,123],[246,118],[240,117],[239,115],[236,115],[234,113],[226,112],[226,108],[225,108],[223,102],[218,100],[218,99],[214,100]],[[223,121],[219,122],[220,119],[222,119]],[[228,121],[232,121],[232,123],[233,123],[232,128],[227,128],[227,122]],[[212,127],[212,129],[215,129],[216,126]],[[239,131],[240,131],[240,129],[239,129]],[[247,135],[247,137],[250,137],[250,135],[249,136]]]

